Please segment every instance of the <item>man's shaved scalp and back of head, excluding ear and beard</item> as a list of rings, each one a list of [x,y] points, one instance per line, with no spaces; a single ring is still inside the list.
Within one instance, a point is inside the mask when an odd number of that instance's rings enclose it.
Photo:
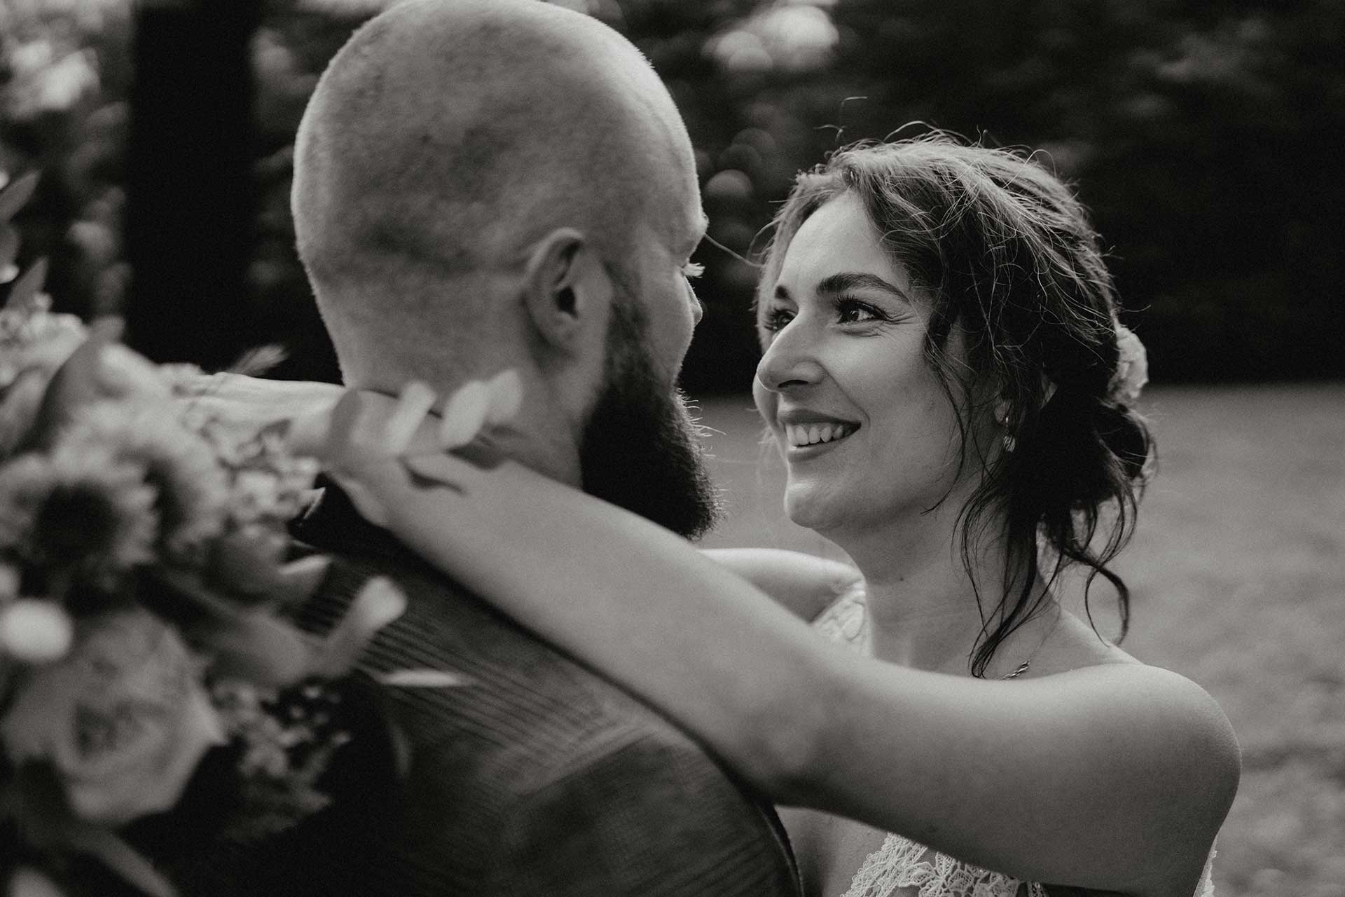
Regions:
[[[534,241],[573,227],[619,266],[687,190],[682,120],[619,34],[537,0],[409,0],[323,74],[295,229],[347,383],[378,387],[469,370]]]

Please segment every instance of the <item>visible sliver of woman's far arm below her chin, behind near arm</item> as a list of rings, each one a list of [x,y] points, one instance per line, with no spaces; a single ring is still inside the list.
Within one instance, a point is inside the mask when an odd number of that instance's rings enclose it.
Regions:
[[[803,620],[816,620],[863,577],[849,563],[783,549],[702,549]]]

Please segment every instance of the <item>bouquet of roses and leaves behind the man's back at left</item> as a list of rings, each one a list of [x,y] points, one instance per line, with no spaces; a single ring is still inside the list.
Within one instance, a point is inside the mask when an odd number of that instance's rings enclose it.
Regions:
[[[137,841],[289,831],[340,800],[354,741],[395,775],[347,674],[405,597],[371,580],[328,636],[292,625],[328,565],[285,529],[316,464],[285,424],[194,416],[192,370],[52,313],[40,280],[0,311],[0,893],[168,897],[172,859]]]

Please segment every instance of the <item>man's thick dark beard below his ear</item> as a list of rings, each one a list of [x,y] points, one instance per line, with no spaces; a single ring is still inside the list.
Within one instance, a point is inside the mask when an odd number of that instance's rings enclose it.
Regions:
[[[685,395],[654,373],[638,313],[628,296],[613,303],[603,391],[580,445],[584,491],[694,539],[718,520],[718,490]]]

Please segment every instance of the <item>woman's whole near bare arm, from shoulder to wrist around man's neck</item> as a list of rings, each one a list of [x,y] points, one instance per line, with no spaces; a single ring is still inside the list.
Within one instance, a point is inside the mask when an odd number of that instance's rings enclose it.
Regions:
[[[985,682],[859,658],[643,518],[516,464],[360,444],[335,464],[398,538],[773,799],[1033,881],[1194,890],[1237,748],[1186,679],[1106,666]]]

